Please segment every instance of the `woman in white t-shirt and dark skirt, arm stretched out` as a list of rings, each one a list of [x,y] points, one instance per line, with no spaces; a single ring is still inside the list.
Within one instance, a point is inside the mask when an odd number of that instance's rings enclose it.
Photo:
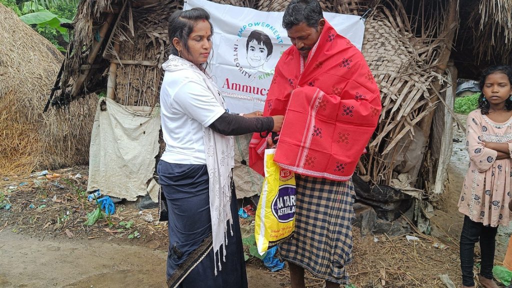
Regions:
[[[233,138],[279,132],[284,116],[226,112],[205,73],[211,52],[209,14],[193,8],[169,18],[171,55],[160,90],[165,152],[158,174],[169,216],[169,287],[247,287],[232,182]],[[258,115],[259,114],[259,115]]]

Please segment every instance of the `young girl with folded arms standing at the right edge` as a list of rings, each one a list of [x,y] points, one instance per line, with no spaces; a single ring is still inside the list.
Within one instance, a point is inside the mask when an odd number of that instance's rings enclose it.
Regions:
[[[464,179],[459,211],[464,224],[460,236],[462,287],[474,288],[475,243],[482,255],[480,284],[498,288],[493,280],[498,224],[508,225],[512,187],[512,67],[493,66],[480,80],[478,109],[467,116],[470,168]]]

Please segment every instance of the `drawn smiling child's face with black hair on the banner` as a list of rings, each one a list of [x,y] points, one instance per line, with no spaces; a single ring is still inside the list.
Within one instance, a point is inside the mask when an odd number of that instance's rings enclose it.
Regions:
[[[272,41],[270,37],[262,31],[253,30],[247,36],[247,63],[251,69],[263,68],[266,61],[272,55]]]

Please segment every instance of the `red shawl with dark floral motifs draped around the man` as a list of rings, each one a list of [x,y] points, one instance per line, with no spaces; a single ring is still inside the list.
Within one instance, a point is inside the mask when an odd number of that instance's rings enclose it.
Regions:
[[[307,176],[346,181],[377,126],[380,93],[361,52],[326,22],[308,60],[292,46],[275,68],[264,116],[285,115],[274,161]],[[263,175],[266,139],[249,166]]]

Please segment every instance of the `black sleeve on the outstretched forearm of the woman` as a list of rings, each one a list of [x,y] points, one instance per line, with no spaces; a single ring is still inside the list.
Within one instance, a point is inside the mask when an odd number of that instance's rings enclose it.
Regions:
[[[224,114],[210,124],[209,128],[226,136],[265,132],[271,131],[274,128],[274,119],[272,117],[246,118],[224,112]]]

